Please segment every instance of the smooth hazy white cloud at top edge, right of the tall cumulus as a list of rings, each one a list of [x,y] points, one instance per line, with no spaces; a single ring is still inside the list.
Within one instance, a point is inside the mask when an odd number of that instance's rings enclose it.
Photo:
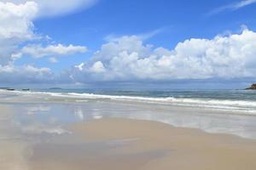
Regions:
[[[0,0],[0,2],[26,3],[27,0]],[[90,8],[97,0],[33,0],[38,4],[38,16],[55,16],[61,14],[70,14],[82,8]]]

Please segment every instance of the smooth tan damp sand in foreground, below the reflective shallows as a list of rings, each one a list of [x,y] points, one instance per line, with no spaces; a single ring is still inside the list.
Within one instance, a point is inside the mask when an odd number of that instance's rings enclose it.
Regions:
[[[31,169],[256,169],[255,140],[128,119],[69,128],[69,137],[34,146]]]

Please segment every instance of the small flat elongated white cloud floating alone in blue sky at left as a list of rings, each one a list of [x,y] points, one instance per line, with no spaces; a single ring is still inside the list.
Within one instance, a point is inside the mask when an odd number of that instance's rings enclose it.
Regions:
[[[87,48],[84,46],[73,46],[72,44],[65,46],[62,44],[48,45],[42,47],[42,45],[31,44],[21,49],[22,54],[31,55],[33,58],[42,58],[53,55],[67,55],[75,53],[85,53]]]

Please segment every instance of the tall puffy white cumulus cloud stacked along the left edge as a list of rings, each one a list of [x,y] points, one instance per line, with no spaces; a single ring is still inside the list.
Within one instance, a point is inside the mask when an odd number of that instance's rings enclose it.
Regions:
[[[46,82],[53,76],[49,68],[14,65],[21,57],[19,45],[38,38],[32,24],[37,13],[37,3],[0,2],[0,82]]]

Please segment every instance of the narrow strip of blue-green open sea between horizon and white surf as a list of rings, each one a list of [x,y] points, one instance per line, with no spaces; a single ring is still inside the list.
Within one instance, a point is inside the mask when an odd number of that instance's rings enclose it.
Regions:
[[[256,90],[113,90],[113,89],[39,89],[35,91],[49,93],[77,93],[124,95],[151,98],[180,98],[180,99],[229,99],[256,101]]]

